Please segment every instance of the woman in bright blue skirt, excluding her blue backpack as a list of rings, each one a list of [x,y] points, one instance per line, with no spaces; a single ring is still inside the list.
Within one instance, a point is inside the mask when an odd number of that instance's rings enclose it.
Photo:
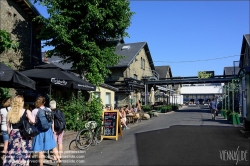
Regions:
[[[49,108],[45,108],[45,98],[40,96],[36,99],[35,102],[36,108],[32,111],[33,116],[35,117],[36,122],[39,121],[38,111],[41,111],[42,109],[47,109],[51,111]],[[40,166],[43,166],[43,159],[44,159],[44,151],[48,151],[52,149],[53,154],[56,158],[56,161],[60,164],[61,159],[58,155],[58,150],[56,147],[56,141],[54,139],[54,135],[52,132],[52,127],[50,127],[48,130],[43,131],[39,130],[39,134],[33,138],[33,151],[38,152],[38,159]]]

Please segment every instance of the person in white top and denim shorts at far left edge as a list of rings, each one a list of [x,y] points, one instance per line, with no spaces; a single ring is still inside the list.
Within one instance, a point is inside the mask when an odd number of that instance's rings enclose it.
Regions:
[[[0,110],[1,118],[1,131],[3,137],[3,155],[5,155],[8,147],[9,134],[7,131],[7,113],[11,109],[11,97],[8,97],[2,101],[2,109]]]

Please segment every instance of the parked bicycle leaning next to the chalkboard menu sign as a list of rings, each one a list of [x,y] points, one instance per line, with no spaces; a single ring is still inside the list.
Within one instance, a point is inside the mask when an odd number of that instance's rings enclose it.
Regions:
[[[80,130],[75,139],[78,149],[87,149],[91,144],[98,145],[103,140],[103,124],[97,125],[95,121],[89,121],[85,124],[85,128]]]

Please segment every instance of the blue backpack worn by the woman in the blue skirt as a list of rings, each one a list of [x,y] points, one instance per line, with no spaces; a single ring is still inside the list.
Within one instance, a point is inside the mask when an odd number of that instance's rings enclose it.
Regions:
[[[47,131],[51,128],[53,123],[53,113],[46,107],[44,109],[38,108],[37,112],[38,117],[38,129],[40,131]]]

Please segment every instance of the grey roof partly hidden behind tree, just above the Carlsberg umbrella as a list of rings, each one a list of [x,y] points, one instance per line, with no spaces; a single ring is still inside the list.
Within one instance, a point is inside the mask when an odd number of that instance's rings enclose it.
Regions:
[[[44,56],[45,56],[45,52],[42,52],[42,59],[44,60]],[[71,69],[72,67],[72,62],[71,63],[62,63],[62,58],[60,58],[59,56],[52,56],[51,58],[48,58],[48,61],[43,61],[46,63],[52,63],[54,65],[56,65],[57,67],[64,69],[64,70],[73,70]]]

